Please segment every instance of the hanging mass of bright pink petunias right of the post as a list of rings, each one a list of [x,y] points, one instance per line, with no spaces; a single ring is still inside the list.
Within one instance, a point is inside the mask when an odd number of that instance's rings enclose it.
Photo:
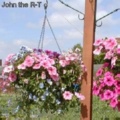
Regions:
[[[93,94],[120,111],[120,45],[106,38],[95,41],[94,46],[94,54],[103,56],[104,64],[96,72]]]

